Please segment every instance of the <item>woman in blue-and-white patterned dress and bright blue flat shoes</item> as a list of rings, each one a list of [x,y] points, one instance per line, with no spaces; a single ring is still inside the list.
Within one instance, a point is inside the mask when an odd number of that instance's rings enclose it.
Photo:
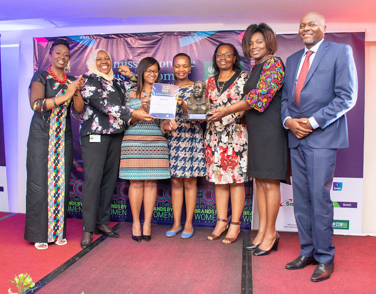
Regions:
[[[168,134],[169,166],[171,172],[171,196],[173,226],[166,237],[175,236],[180,230],[181,208],[185,196],[186,218],[181,238],[193,235],[193,216],[197,201],[197,177],[206,175],[203,130],[199,121],[180,118],[186,112],[186,102],[193,95],[194,82],[188,79],[191,72],[191,58],[179,53],[174,56],[172,70],[179,86],[179,99],[176,111],[177,129]],[[205,94],[205,93],[204,93]]]

